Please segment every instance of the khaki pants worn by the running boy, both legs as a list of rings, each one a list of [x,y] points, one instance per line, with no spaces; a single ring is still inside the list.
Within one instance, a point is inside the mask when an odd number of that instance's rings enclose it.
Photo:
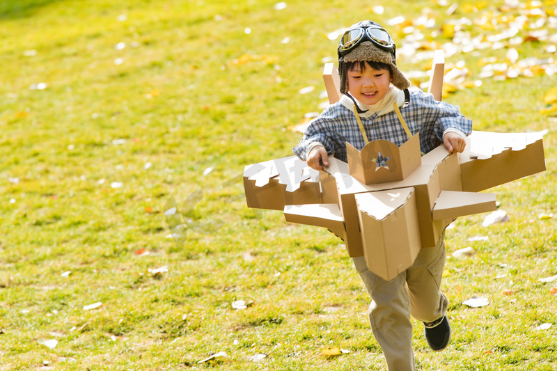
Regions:
[[[372,299],[368,315],[373,336],[391,371],[414,370],[410,315],[421,322],[445,315],[448,299],[439,290],[445,259],[444,235],[437,246],[422,248],[414,265],[392,281],[370,272],[363,256],[353,259]]]

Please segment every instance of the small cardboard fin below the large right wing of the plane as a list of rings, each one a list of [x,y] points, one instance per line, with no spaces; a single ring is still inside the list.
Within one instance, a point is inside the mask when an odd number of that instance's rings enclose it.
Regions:
[[[458,216],[497,210],[495,194],[441,191],[432,210],[433,220],[455,219]]]

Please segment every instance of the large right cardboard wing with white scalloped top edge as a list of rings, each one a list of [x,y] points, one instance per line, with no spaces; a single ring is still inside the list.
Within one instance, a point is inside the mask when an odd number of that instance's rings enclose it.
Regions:
[[[545,171],[542,133],[472,132],[460,154],[464,191],[483,191]]]

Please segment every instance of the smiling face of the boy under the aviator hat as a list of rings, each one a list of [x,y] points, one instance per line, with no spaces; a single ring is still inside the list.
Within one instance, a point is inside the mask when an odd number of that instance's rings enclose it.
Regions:
[[[359,63],[354,63],[354,68],[347,71],[347,82],[352,97],[365,104],[376,104],[389,90],[391,74],[389,70],[375,70],[368,63],[360,70]]]

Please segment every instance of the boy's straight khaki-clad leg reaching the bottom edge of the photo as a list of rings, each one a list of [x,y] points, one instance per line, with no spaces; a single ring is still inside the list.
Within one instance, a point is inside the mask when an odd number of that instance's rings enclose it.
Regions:
[[[371,329],[383,350],[387,367],[391,371],[413,371],[414,349],[409,297],[405,289],[406,272],[392,281],[385,281],[369,271],[363,257],[353,260],[372,298],[368,312]]]

